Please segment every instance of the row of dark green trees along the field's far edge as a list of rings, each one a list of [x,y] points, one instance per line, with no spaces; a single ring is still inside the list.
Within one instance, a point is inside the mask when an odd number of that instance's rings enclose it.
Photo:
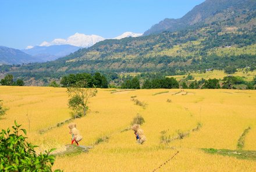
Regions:
[[[234,67],[226,67],[226,74],[236,72]],[[114,75],[115,74],[115,75]],[[69,74],[61,78],[60,82],[53,80],[48,86],[52,87],[72,87],[78,82],[83,81],[81,87],[97,87],[108,88],[116,87],[120,89],[256,89],[256,76],[252,81],[246,81],[241,76],[227,75],[223,79],[208,79],[194,80],[192,75],[187,75],[186,78],[177,81],[175,78],[166,77],[166,74],[150,74],[142,73],[137,76],[119,76],[116,73],[107,75],[96,72],[95,74],[81,73]],[[110,84],[109,84],[110,82]],[[14,80],[13,75],[6,75],[1,79],[1,85],[6,86],[23,86],[22,79]]]

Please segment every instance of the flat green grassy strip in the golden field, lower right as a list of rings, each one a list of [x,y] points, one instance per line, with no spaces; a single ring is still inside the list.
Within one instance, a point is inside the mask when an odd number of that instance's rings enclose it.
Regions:
[[[243,150],[229,150],[229,149],[214,149],[202,148],[206,153],[218,154],[224,156],[233,156],[238,159],[256,160],[256,151],[243,151]]]

